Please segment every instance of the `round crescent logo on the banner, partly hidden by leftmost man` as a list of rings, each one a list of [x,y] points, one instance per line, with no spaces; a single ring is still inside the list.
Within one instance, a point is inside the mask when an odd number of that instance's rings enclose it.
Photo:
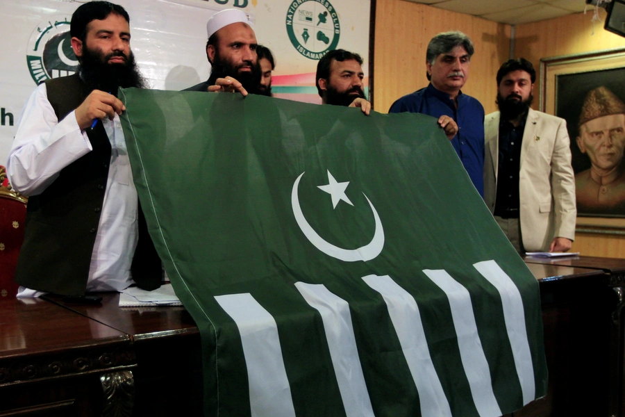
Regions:
[[[38,84],[76,72],[78,60],[72,49],[67,16],[54,16],[37,26],[28,40],[26,63]]]

